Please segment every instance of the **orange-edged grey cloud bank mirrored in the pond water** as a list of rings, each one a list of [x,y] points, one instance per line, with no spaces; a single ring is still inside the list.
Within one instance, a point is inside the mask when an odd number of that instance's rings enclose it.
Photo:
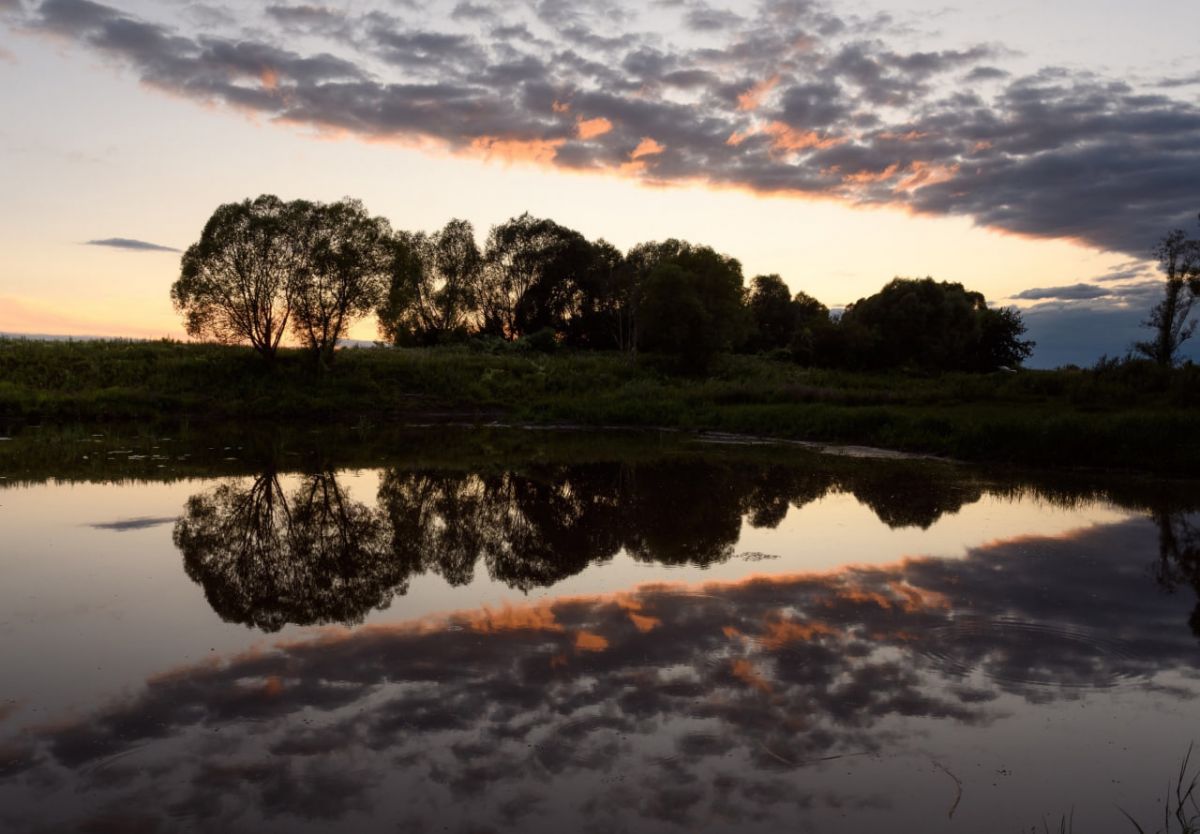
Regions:
[[[1189,601],[1146,571],[1159,532],[1135,520],[962,559],[331,629],[18,737],[0,796],[64,822],[118,804],[204,828],[382,820],[390,798],[420,796],[396,818],[430,828],[466,803],[530,830],[778,830],[887,802],[791,779],[905,749],[929,726],[914,721],[1003,732],[1014,713],[1097,689],[1189,696],[1156,683],[1198,671]]]

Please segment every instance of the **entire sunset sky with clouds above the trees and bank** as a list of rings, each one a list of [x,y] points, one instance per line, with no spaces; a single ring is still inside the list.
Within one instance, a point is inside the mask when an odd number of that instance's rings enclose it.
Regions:
[[[830,307],[932,276],[1123,354],[1200,235],[1194,0],[0,0],[0,331],[181,337],[259,193],[680,238]],[[364,320],[350,334],[373,338]],[[1193,346],[1193,354],[1200,356]]]

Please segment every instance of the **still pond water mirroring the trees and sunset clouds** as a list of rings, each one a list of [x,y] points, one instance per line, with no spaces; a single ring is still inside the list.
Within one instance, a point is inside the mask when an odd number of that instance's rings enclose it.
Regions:
[[[0,830],[1154,830],[1200,739],[1194,484],[185,434],[0,444]]]

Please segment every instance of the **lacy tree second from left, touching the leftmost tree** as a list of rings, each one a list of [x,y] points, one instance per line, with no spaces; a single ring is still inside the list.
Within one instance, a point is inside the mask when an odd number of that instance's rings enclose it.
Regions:
[[[379,305],[386,281],[391,228],[362,203],[311,204],[294,234],[305,253],[293,275],[293,331],[324,367],[354,319]]]

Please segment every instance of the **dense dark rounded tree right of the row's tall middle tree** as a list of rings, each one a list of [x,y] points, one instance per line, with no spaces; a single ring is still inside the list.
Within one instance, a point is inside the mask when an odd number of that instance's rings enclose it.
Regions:
[[[635,248],[648,269],[640,281],[638,342],[700,371],[746,332],[742,264],[707,246],[677,240]]]

